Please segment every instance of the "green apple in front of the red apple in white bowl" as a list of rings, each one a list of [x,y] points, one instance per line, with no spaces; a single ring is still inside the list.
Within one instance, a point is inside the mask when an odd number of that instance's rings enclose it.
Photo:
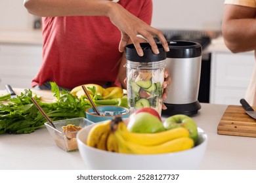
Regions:
[[[132,114],[127,129],[135,133],[156,133],[165,130],[161,120],[149,112]]]

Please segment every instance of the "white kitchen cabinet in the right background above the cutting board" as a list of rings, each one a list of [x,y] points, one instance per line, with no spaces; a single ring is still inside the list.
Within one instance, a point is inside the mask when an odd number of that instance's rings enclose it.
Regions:
[[[254,67],[253,52],[211,52],[210,103],[240,105]]]

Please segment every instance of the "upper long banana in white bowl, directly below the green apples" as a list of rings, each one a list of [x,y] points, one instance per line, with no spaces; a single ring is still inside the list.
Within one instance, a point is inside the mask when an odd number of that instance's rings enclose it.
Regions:
[[[132,133],[128,131],[123,122],[118,123],[115,133],[121,133],[127,141],[129,140],[144,146],[155,146],[180,137],[189,137],[189,131],[184,127],[177,127],[159,133]]]

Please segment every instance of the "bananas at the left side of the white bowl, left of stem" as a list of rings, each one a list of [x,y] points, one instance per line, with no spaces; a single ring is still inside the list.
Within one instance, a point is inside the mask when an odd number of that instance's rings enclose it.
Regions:
[[[89,131],[86,144],[100,150],[118,152],[116,138],[110,129],[111,122],[112,120],[106,120],[95,124]]]

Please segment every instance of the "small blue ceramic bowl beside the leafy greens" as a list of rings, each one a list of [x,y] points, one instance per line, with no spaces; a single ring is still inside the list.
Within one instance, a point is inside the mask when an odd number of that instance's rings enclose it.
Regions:
[[[116,105],[102,105],[97,106],[98,111],[100,114],[103,114],[101,116],[98,116],[96,114],[93,107],[87,108],[85,110],[86,118],[90,120],[91,122],[102,122],[105,120],[112,120],[114,117],[119,116],[121,118],[128,118],[130,116],[130,110],[125,107],[120,107]]]

